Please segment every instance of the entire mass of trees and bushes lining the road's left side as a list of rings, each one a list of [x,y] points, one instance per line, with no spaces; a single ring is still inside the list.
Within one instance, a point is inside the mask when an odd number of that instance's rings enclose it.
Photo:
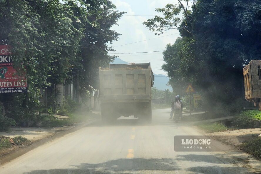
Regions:
[[[10,46],[14,68],[26,74],[28,87],[27,93],[0,94],[0,130],[74,123],[76,116],[70,114],[86,105],[98,88],[98,67],[116,57],[108,55],[115,51],[108,43],[121,34],[111,27],[125,12],[108,0],[2,0],[0,11],[0,20],[6,22],[0,28],[0,45]],[[56,86],[68,83],[77,84],[75,96],[60,106]]]

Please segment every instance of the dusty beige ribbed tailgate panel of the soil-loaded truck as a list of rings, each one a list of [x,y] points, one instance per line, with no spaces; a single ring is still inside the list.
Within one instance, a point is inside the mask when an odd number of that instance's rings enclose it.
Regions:
[[[99,70],[100,100],[150,100],[151,71]]]

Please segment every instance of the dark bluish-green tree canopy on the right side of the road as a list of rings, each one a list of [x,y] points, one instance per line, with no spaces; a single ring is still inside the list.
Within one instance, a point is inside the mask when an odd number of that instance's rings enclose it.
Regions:
[[[161,11],[164,18],[156,16],[144,25],[163,33],[167,29],[157,24],[165,21],[171,29],[179,29],[181,38],[163,53],[162,68],[174,91],[192,83],[204,94],[209,108],[234,106],[228,111],[235,112],[240,109],[235,103],[242,101],[243,65],[261,59],[261,4],[258,0],[198,0],[194,4],[187,0],[168,4]],[[172,27],[175,22],[183,27]]]

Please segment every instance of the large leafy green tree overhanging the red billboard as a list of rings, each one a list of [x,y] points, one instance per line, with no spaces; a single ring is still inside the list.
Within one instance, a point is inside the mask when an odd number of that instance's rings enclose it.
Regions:
[[[68,78],[83,33],[71,6],[59,0],[1,0],[0,6],[1,44],[11,46],[14,67],[26,72],[28,84],[27,94],[1,94],[0,100],[19,121],[37,106],[39,89]]]

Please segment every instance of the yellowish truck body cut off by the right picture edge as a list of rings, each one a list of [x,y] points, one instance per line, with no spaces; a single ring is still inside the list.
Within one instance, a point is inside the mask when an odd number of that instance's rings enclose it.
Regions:
[[[245,99],[261,111],[261,61],[252,60],[243,68]]]

